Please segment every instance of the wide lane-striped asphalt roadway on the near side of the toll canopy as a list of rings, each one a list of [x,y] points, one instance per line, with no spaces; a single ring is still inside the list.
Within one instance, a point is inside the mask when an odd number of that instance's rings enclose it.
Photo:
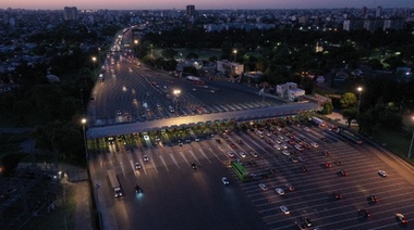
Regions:
[[[309,130],[304,131],[304,126]],[[267,132],[264,129],[264,133]],[[296,143],[316,142],[318,148],[295,150],[288,142],[291,133]],[[404,226],[397,221],[394,214],[402,213],[409,218],[414,215],[411,195],[414,184],[410,180],[413,171],[366,143],[357,145],[306,122],[269,137],[260,138],[252,131],[235,131],[227,137],[224,140],[223,135],[217,135],[182,146],[163,145],[154,140],[145,145],[138,144],[139,141],[126,144],[117,141],[94,155],[90,171],[96,176],[94,181],[100,184],[99,209],[105,226],[118,229],[295,229],[295,221],[302,222],[307,217],[318,229],[399,229]],[[291,155],[300,161],[293,162],[273,148],[280,137]],[[227,154],[229,151],[242,161],[249,174],[266,174],[267,179],[241,182],[229,167],[234,159]],[[240,154],[252,151],[258,156]],[[149,162],[144,162],[145,155]],[[135,169],[136,162],[142,169]],[[196,163],[198,169],[192,169],[192,163]],[[325,163],[331,167],[327,168]],[[113,197],[109,188],[106,175],[109,168],[115,170],[121,181],[125,193],[121,199]],[[340,170],[345,170],[348,176],[339,174]],[[378,170],[386,170],[389,176],[382,178]],[[222,177],[229,178],[229,186],[222,183]],[[259,183],[268,189],[260,189]],[[288,190],[288,183],[294,191]],[[136,195],[135,184],[143,189],[142,195]],[[277,188],[283,189],[285,194],[279,195]],[[342,199],[334,200],[332,193],[341,194]],[[377,203],[368,201],[372,194],[379,199]],[[280,210],[282,205],[290,209],[289,215]],[[358,214],[361,208],[372,216],[363,217]]]

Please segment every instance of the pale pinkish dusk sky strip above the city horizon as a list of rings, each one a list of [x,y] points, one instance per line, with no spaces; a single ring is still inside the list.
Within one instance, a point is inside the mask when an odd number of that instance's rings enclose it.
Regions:
[[[171,10],[194,4],[214,9],[321,9],[321,8],[414,8],[414,0],[0,0],[0,9],[62,10]]]

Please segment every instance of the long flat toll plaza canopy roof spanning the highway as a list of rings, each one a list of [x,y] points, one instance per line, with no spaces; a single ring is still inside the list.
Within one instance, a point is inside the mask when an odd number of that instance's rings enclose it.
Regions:
[[[254,110],[232,111],[226,113],[211,113],[194,116],[170,117],[147,122],[122,123],[111,126],[89,127],[86,136],[87,139],[105,138],[126,133],[136,133],[154,131],[168,128],[193,126],[199,123],[215,120],[235,120],[247,122],[255,119],[265,119],[271,117],[291,116],[302,112],[312,112],[319,110],[319,105],[310,102],[290,103],[278,106],[268,106]]]

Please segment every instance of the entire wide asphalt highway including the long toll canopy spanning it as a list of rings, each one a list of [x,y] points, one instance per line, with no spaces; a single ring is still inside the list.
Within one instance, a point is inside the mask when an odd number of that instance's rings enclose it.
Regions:
[[[108,58],[105,80],[97,82],[88,105],[89,171],[104,229],[297,229],[295,221],[303,222],[304,217],[315,229],[410,229],[412,223],[399,223],[394,215],[402,213],[414,221],[413,167],[366,141],[350,142],[329,127],[287,122],[287,116],[317,108],[315,104],[285,104],[258,95],[256,88],[222,80],[195,88],[185,79],[138,65],[126,54]],[[180,95],[167,98],[173,89],[180,89]],[[178,110],[169,112],[170,105]],[[138,135],[167,127],[196,131],[194,124],[217,119],[248,120],[255,127],[218,132],[182,146],[169,141],[174,139],[169,132],[162,141]],[[120,135],[129,141],[108,143],[106,137]],[[287,145],[289,156],[276,149],[278,141]],[[241,154],[252,151],[258,156]],[[242,182],[230,167],[235,158],[249,174],[267,177]],[[135,163],[143,168],[136,170]],[[109,169],[115,171],[124,191],[120,199],[110,188]],[[378,170],[389,176],[380,177]],[[230,184],[223,184],[222,177]],[[287,183],[295,190],[289,191]],[[135,184],[142,194],[136,194]],[[279,195],[277,188],[285,194]],[[332,193],[342,199],[334,200]],[[372,194],[378,196],[377,203],[368,201]],[[290,214],[280,210],[282,205]],[[370,217],[358,214],[361,208]]]

